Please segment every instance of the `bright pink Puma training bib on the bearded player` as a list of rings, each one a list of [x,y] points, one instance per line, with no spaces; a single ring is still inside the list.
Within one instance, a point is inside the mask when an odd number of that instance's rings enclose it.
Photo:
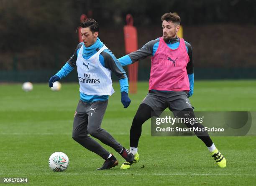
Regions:
[[[172,50],[160,38],[159,47],[151,57],[149,90],[189,90],[186,68],[188,62],[184,39],[179,39],[179,47]]]

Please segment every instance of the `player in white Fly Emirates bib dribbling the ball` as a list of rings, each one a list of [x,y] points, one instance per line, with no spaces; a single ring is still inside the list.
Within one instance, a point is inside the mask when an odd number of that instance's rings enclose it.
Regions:
[[[74,55],[61,70],[50,78],[49,86],[52,87],[55,81],[67,76],[77,66],[80,100],[74,115],[72,138],[105,160],[98,170],[117,166],[118,161],[90,136],[112,147],[126,161],[133,163],[133,154],[100,127],[108,105],[108,96],[114,93],[111,72],[119,79],[124,108],[131,103],[126,73],[115,55],[98,38],[99,24],[93,19],[87,19],[80,27],[83,42],[77,45]]]

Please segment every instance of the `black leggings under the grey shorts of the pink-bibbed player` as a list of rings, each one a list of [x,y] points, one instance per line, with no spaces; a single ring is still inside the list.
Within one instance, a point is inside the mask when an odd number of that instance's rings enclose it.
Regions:
[[[149,118],[151,118],[151,112],[154,112],[154,110],[148,106],[147,104],[142,103],[138,111],[136,112],[136,115],[133,118],[133,123],[130,130],[130,146],[131,147],[138,147],[138,141],[141,137],[141,128],[142,124],[147,121]],[[182,112],[177,113],[176,116],[178,117],[184,117],[184,113],[189,114],[190,117],[195,117],[194,111],[192,108],[187,108],[182,110]],[[187,116],[187,117],[189,117]],[[195,124],[193,125],[195,127]],[[188,128],[192,127],[190,124],[187,125]],[[197,123],[198,128],[204,128],[200,123]],[[207,147],[212,146],[212,140],[207,132],[204,133],[195,133],[198,138],[200,138]]]

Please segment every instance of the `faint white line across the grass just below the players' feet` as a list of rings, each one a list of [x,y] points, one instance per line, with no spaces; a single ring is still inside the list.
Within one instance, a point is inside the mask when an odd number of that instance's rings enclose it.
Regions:
[[[61,172],[61,173],[0,173],[0,175],[56,175],[56,176],[75,176],[75,175],[87,175],[87,176],[99,176],[99,175],[105,175],[105,176],[114,176],[114,175],[130,175],[130,176],[256,176],[256,174],[233,174],[233,173],[67,173],[67,172]]]

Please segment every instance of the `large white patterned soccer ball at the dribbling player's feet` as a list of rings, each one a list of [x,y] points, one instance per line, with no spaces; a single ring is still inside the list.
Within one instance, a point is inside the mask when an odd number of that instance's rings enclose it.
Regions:
[[[69,158],[63,152],[55,152],[49,158],[49,167],[56,172],[65,171],[69,165]]]

